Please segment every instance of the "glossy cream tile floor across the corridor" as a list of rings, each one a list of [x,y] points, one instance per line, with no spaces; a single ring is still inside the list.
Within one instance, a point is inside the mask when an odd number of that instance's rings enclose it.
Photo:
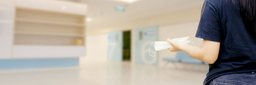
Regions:
[[[202,85],[206,73],[130,62],[106,62],[80,68],[0,72],[0,85]]]

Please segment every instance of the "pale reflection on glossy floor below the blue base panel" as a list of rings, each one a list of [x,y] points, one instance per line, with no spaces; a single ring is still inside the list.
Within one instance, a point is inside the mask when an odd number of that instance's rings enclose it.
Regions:
[[[74,85],[77,69],[0,73],[0,85]]]

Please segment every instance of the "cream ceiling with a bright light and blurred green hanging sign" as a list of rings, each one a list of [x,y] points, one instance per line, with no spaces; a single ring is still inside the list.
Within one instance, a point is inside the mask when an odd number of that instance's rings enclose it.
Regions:
[[[134,21],[191,7],[202,6],[204,0],[138,0],[124,3],[116,0],[68,0],[88,5],[87,29],[103,28],[122,22]],[[116,11],[115,6],[124,6],[125,11]]]

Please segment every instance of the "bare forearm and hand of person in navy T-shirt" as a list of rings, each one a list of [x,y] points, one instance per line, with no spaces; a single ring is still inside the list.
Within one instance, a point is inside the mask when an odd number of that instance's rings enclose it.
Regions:
[[[167,39],[167,42],[172,45],[171,48],[168,48],[170,51],[183,51],[193,58],[209,64],[213,64],[217,60],[220,50],[220,42],[205,39],[203,41],[203,46],[189,46],[187,43],[173,41],[169,38]]]

